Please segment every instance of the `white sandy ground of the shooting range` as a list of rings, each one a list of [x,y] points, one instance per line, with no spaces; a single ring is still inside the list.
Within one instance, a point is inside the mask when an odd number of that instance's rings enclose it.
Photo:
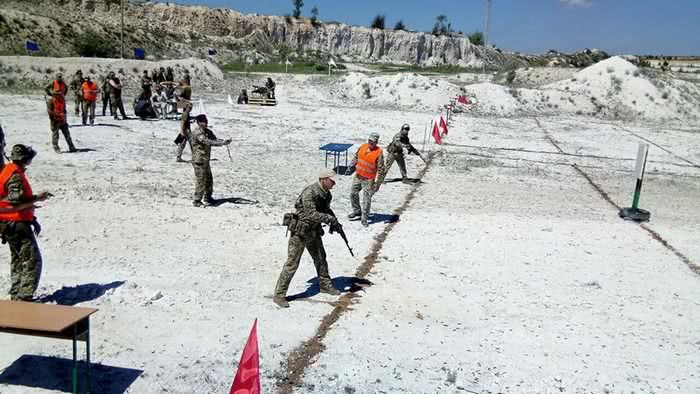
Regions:
[[[317,81],[283,80],[275,108],[229,113],[224,96],[204,97],[214,130],[235,139],[233,162],[225,149],[214,151],[215,197],[259,201],[216,208],[190,205],[192,168],[174,162],[177,122],[98,118],[95,127],[71,130],[78,147],[95,151],[57,155],[41,97],[0,95],[8,144],[37,148],[29,178],[56,195],[37,211],[38,295],[59,291],[62,301],[100,308],[92,357],[104,366],[95,376],[102,390],[226,392],[258,318],[262,389],[277,391],[287,354],[314,335],[336,299],[314,295],[280,310],[267,298],[286,255],[282,214],[323,166],[318,147],[359,144],[370,131],[387,142],[404,122],[414,125],[419,146],[434,115],[348,103],[319,93],[325,85]],[[369,276],[375,286],[333,326],[297,392],[700,390],[700,277],[620,221],[570,166],[626,206],[634,134],[671,151],[652,146],[641,205],[652,212],[649,227],[698,263],[700,169],[688,161],[700,162],[700,127],[571,116],[540,124],[461,115],[446,139],[453,145],[429,146],[437,152],[432,168],[380,252]],[[408,165],[415,175],[423,164],[410,156]],[[350,211],[349,186],[340,177],[333,191],[339,216]],[[411,187],[384,185],[374,212],[391,214]],[[324,238],[338,284],[385,226],[342,222],[358,258],[339,237]],[[7,260],[0,272],[9,273]],[[313,277],[305,255],[290,294]],[[8,287],[9,275],[0,275],[0,292]],[[68,387],[55,361],[33,366],[41,373],[32,387],[1,377],[29,375],[23,355],[69,359],[69,342],[0,335],[0,349],[1,392]],[[142,373],[131,382],[116,368]]]

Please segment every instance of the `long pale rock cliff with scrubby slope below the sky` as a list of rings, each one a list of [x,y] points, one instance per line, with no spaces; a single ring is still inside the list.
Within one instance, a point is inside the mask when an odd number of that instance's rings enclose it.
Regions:
[[[92,30],[119,47],[119,0],[6,0],[0,6],[0,51],[18,54],[24,39],[49,55],[75,55],[73,42]],[[154,58],[204,57],[216,48],[226,60],[279,61],[314,52],[347,61],[417,65],[503,67],[525,61],[472,45],[464,36],[312,24],[277,16],[244,15],[229,9],[130,2],[125,47],[143,47]]]

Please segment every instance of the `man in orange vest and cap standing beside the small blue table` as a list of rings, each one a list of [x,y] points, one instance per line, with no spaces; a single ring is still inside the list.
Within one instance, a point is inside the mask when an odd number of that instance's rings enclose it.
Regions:
[[[348,215],[348,218],[354,219],[360,216],[362,225],[365,227],[369,226],[367,218],[372,206],[372,195],[379,191],[380,183],[375,182],[375,180],[378,174],[384,173],[384,152],[377,143],[379,143],[379,134],[370,134],[367,143],[360,146],[352,159],[355,176],[350,187],[352,213]],[[360,206],[360,190],[362,190],[364,197],[362,206]]]

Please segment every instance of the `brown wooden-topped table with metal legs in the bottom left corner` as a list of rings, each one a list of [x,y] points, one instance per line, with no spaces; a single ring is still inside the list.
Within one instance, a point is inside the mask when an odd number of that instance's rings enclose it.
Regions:
[[[73,393],[78,392],[78,341],[85,342],[90,392],[90,315],[95,308],[0,300],[0,332],[73,340]]]

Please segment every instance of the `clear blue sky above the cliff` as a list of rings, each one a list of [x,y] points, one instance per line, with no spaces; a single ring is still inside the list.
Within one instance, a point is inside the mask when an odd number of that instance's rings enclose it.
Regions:
[[[246,14],[286,15],[292,0],[177,0],[178,4],[231,8]],[[399,19],[410,30],[430,31],[444,14],[453,30],[484,31],[487,0],[304,0],[321,21],[368,26],[375,15],[386,27]],[[700,56],[700,0],[492,0],[489,43],[508,51]]]

